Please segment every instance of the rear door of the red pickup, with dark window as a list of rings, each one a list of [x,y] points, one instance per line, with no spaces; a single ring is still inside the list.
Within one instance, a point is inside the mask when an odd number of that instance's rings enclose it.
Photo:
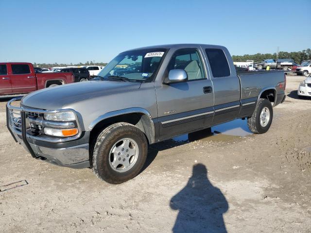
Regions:
[[[10,64],[13,93],[25,93],[36,90],[36,76],[28,64]]]

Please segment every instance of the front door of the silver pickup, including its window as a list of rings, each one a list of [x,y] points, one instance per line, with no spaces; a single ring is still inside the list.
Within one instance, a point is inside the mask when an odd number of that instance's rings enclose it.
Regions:
[[[214,98],[211,80],[207,79],[202,57],[202,50],[176,50],[163,80],[168,77],[170,70],[184,69],[188,82],[162,83],[155,87],[160,140],[210,126]]]

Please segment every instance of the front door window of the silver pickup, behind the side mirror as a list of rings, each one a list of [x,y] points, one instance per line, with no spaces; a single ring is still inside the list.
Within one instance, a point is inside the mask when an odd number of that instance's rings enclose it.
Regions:
[[[184,69],[188,74],[188,80],[205,79],[202,61],[199,51],[196,49],[177,50],[168,65],[167,71],[171,69]]]

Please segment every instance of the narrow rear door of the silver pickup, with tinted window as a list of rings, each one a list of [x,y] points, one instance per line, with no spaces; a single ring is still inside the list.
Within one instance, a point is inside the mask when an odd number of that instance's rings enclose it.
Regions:
[[[241,87],[228,51],[218,48],[204,48],[207,64],[213,82],[215,116],[212,125],[235,119],[240,112]]]

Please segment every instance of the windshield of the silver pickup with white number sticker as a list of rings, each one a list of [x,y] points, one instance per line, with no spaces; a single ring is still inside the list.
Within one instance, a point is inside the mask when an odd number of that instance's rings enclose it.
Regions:
[[[166,49],[131,50],[120,53],[94,80],[151,81]]]

